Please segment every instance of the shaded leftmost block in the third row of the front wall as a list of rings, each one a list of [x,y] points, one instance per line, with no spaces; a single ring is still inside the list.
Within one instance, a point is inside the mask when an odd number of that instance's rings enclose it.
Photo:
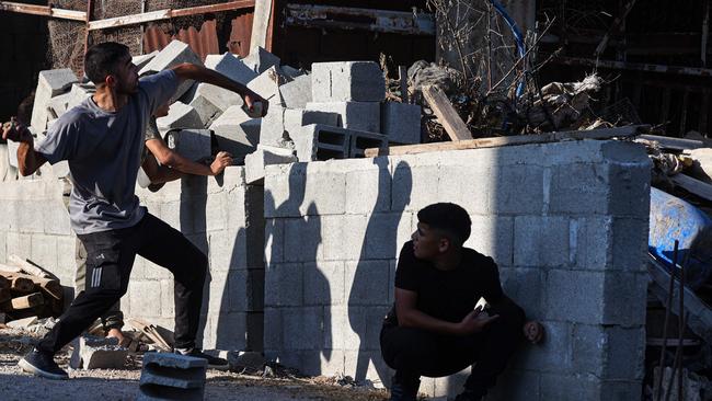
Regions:
[[[279,263],[265,268],[265,309],[303,305],[303,266]]]

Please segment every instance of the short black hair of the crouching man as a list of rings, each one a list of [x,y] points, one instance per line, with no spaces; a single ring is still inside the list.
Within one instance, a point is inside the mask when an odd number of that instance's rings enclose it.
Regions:
[[[472,220],[459,205],[438,203],[426,206],[417,213],[417,219],[432,229],[444,231],[458,247],[470,238]]]

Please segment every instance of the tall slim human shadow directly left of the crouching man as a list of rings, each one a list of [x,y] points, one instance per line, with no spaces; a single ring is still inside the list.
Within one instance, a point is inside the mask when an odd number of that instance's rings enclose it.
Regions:
[[[392,176],[388,158],[375,158],[374,163],[378,165],[378,196],[366,226],[348,293],[348,321],[359,337],[354,379],[365,380],[369,363],[372,362],[381,382],[387,383],[390,375],[380,355],[379,334],[382,319],[391,307],[389,294],[393,284],[390,261],[398,257],[400,250],[398,227],[403,209],[411,202],[413,177],[411,167],[405,161],[395,165]]]

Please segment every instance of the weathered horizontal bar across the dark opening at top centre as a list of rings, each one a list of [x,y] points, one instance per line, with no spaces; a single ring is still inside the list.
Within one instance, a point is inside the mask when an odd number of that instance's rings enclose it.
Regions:
[[[427,13],[294,3],[285,12],[287,26],[435,35],[435,18]]]

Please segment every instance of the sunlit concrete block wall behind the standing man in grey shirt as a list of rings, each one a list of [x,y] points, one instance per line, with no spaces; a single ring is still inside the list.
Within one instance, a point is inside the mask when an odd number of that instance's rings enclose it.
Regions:
[[[42,177],[0,183],[0,263],[13,253],[28,257],[72,287],[76,238],[62,203],[64,184],[50,169],[43,171]],[[244,169],[233,167],[218,180],[191,177],[168,183],[157,193],[137,187],[137,194],[151,214],[180,229],[208,255],[203,346],[261,350],[263,188],[246,185]],[[122,310],[126,317],[173,329],[171,273],[137,257]]]

